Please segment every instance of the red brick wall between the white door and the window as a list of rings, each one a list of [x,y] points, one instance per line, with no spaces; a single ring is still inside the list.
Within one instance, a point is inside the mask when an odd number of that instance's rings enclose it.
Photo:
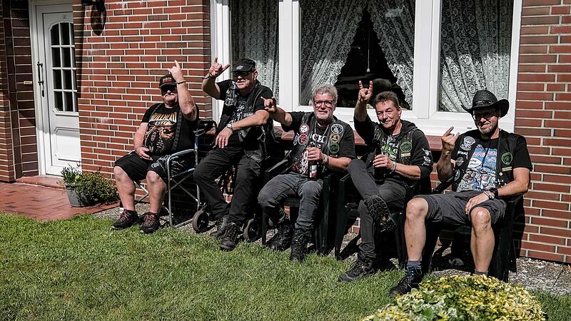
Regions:
[[[211,64],[210,1],[108,0],[105,6],[106,24],[97,35],[92,9],[74,0],[74,29],[82,166],[111,173],[113,162],[133,148],[143,113],[161,101],[158,78],[175,59],[201,117],[211,116],[211,98],[201,91]]]

